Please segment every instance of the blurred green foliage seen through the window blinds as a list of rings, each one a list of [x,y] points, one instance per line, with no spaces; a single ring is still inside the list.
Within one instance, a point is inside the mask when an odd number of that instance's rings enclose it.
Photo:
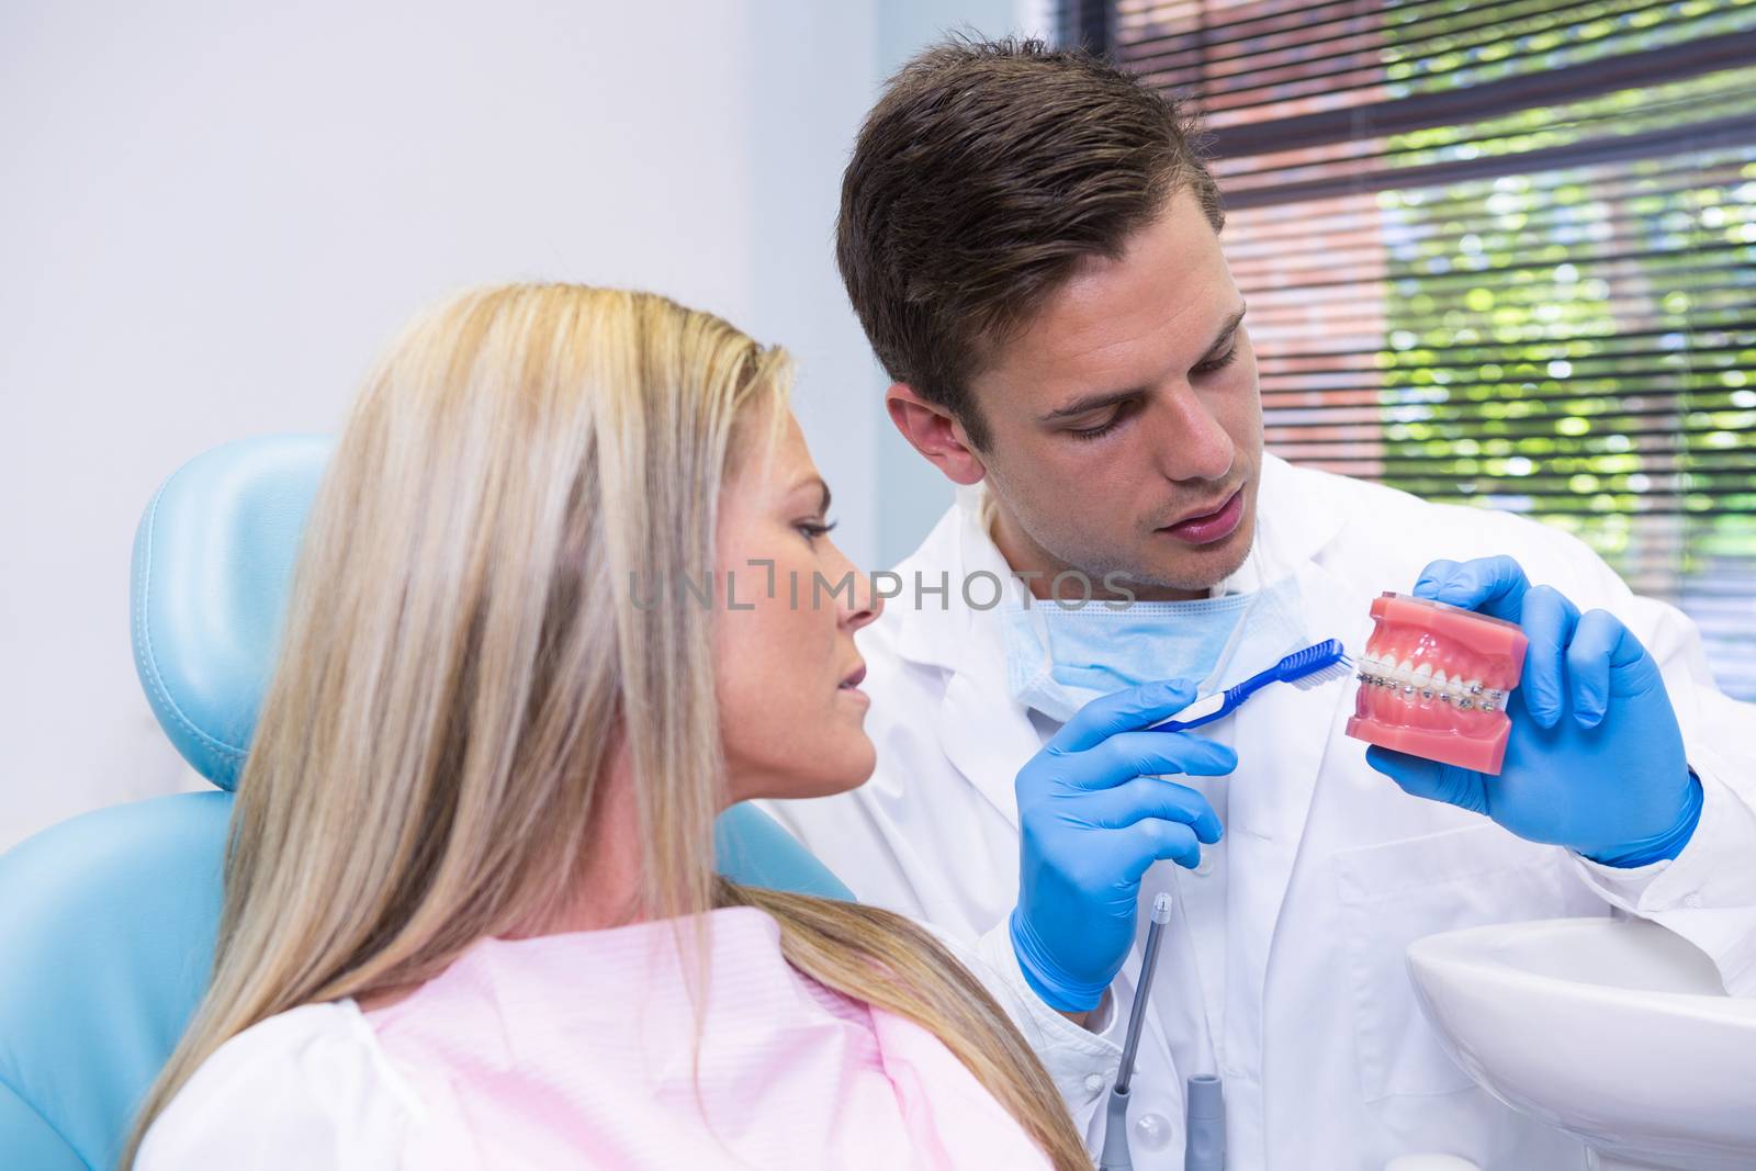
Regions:
[[[1501,19],[1536,26],[1561,7],[1521,4]],[[1610,39],[1621,44],[1603,53],[1628,53],[1631,28],[1651,30],[1640,47],[1747,28],[1756,0],[1635,9],[1570,5],[1563,40],[1544,32],[1526,46],[1554,44],[1549,63],[1501,60],[1503,39],[1480,51],[1422,42],[1440,56],[1421,68],[1449,72],[1407,86],[1573,65]],[[1519,156],[1751,116],[1756,68],[1733,68],[1424,128],[1389,139],[1387,158],[1507,167],[1378,193],[1384,481],[1533,514],[1644,593],[1749,614],[1721,655],[1756,653],[1756,135],[1684,130],[1649,154],[1547,170]]]

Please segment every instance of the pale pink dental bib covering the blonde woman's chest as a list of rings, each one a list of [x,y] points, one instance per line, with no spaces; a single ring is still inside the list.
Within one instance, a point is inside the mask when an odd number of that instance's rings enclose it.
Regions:
[[[704,938],[699,1066],[669,922],[485,939],[367,1013],[425,1115],[402,1166],[1047,1166],[938,1038],[787,964],[766,913]]]

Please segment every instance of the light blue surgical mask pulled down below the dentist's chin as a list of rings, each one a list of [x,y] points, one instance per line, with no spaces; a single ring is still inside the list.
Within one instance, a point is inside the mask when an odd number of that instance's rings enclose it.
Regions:
[[[1298,578],[1270,578],[1254,548],[1250,558],[1257,588],[1245,593],[1122,609],[1006,602],[1008,692],[1066,723],[1099,695],[1154,679],[1194,679],[1201,695],[1241,683],[1306,643]]]

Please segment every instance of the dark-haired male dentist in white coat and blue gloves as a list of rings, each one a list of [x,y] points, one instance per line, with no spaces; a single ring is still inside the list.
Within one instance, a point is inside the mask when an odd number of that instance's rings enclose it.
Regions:
[[[1140,908],[1169,894],[1136,1166],[1182,1166],[1205,1073],[1233,1167],[1577,1166],[1440,1052],[1403,948],[1623,908],[1756,995],[1756,709],[1579,541],[1263,451],[1187,135],[1141,83],[1015,42],[931,49],[871,112],[841,272],[892,421],[959,492],[862,632],[876,776],[769,809],[1034,994],[1026,1032],[1092,1143]],[[1382,590],[1529,636],[1498,778],[1347,739],[1352,683],[1140,730],[1306,643],[1361,651]]]

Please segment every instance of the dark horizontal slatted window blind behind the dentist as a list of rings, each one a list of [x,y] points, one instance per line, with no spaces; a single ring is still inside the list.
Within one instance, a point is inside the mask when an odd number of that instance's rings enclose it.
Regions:
[[[1756,699],[1756,0],[1113,0],[1203,112],[1271,451],[1582,537]]]

